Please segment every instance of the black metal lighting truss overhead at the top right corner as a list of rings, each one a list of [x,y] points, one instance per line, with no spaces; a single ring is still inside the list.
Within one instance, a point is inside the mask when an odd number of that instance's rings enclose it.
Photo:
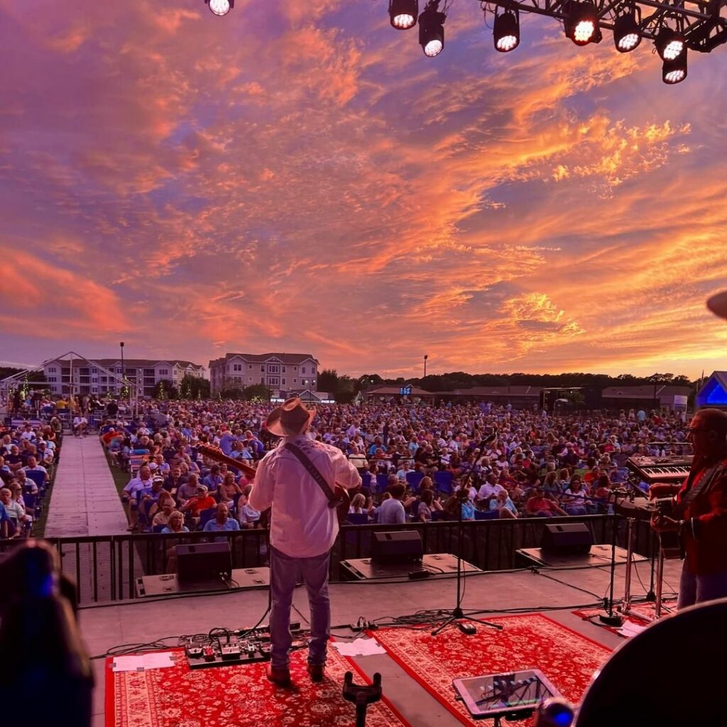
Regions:
[[[485,12],[496,7],[547,15],[564,23],[569,0],[492,0],[479,3]],[[662,27],[678,28],[690,50],[709,53],[727,43],[727,0],[595,0],[601,30],[614,31],[619,15],[638,7],[637,25],[642,38],[656,40]],[[598,41],[595,41],[598,42]]]

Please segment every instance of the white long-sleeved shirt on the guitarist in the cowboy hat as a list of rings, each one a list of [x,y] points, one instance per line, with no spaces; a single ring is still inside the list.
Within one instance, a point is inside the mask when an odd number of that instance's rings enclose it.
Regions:
[[[321,486],[288,449],[294,443],[316,465],[331,489],[349,490],[361,484],[361,476],[337,447],[311,441],[305,435],[284,437],[257,466],[249,503],[255,510],[272,505],[270,545],[291,558],[313,558],[330,550],[338,534],[336,508]]]

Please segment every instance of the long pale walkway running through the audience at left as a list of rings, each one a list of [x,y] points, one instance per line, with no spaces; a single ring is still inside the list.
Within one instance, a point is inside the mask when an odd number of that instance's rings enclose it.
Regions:
[[[95,434],[63,438],[47,537],[126,534],[126,513]]]

